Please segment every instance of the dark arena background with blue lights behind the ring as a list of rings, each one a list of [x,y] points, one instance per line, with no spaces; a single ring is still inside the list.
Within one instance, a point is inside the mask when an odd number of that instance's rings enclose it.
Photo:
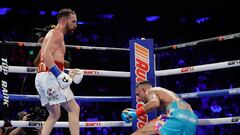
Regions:
[[[175,93],[214,91],[212,95],[186,101],[199,119],[232,119],[227,123],[199,125],[196,134],[240,133],[240,11],[238,4],[226,0],[0,0],[0,125],[4,120],[22,120],[23,112],[31,114],[31,121],[46,120],[48,112],[41,107],[40,100],[21,100],[15,95],[38,95],[34,85],[36,74],[11,73],[9,70],[6,76],[2,72],[6,64],[3,58],[7,57],[9,69],[10,66],[34,67],[33,60],[40,47],[20,47],[6,42],[37,42],[39,29],[56,25],[56,15],[62,8],[74,10],[78,19],[77,30],[65,36],[66,45],[129,49],[129,40],[146,38],[154,40],[156,70],[187,67],[182,71],[188,72],[198,65],[228,63],[228,66],[220,65],[215,70],[205,67],[199,72],[157,77],[156,86]],[[215,40],[209,42],[202,40],[214,37]],[[199,45],[157,50],[192,41],[199,41]],[[70,62],[70,68],[130,71],[129,51],[67,48],[65,59]],[[2,82],[4,79],[7,79],[7,88]],[[71,89],[75,96],[131,96],[129,77],[85,75],[81,83],[72,84]],[[225,92],[219,93],[221,90]],[[8,107],[6,95],[10,97]],[[131,108],[131,102],[121,100],[77,102],[81,109],[80,122],[122,121],[122,110]],[[67,116],[62,109],[59,122],[67,122]],[[133,132],[132,127],[95,126],[80,127],[80,132],[82,135],[129,135]],[[4,133],[6,130],[1,127],[0,135],[9,134]],[[24,127],[23,130],[22,134],[37,134],[36,128]],[[53,128],[51,134],[70,135],[70,132],[69,128],[59,127]]]

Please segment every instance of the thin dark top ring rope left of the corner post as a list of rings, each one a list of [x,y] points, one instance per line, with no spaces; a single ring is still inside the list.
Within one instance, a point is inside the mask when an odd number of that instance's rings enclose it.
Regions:
[[[33,43],[33,42],[19,42],[19,41],[4,41],[9,45],[17,45],[20,47],[41,47],[42,43]],[[0,44],[3,44],[0,41]],[[92,46],[78,46],[78,45],[65,45],[66,48],[72,48],[76,50],[101,50],[101,51],[129,51],[127,48],[113,48],[113,47],[92,47]]]

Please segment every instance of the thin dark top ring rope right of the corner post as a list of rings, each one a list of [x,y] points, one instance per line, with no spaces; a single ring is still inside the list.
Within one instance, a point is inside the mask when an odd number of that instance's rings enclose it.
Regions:
[[[240,33],[235,33],[235,34],[229,34],[229,35],[223,35],[223,36],[217,36],[213,38],[206,38],[206,39],[201,39],[201,40],[196,40],[196,41],[191,41],[191,42],[186,42],[186,43],[180,43],[176,45],[169,45],[169,46],[163,46],[159,48],[155,48],[154,51],[162,51],[166,49],[179,49],[179,48],[184,48],[184,47],[189,47],[189,46],[196,46],[202,43],[208,43],[208,42],[213,42],[213,41],[225,41],[225,40],[230,40],[230,39],[235,39],[235,38],[240,38]]]

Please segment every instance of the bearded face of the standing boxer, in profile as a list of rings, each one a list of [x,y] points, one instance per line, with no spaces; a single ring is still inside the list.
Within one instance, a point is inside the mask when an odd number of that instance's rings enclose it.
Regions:
[[[77,17],[75,14],[70,14],[66,19],[65,30],[67,34],[73,34],[77,28]]]

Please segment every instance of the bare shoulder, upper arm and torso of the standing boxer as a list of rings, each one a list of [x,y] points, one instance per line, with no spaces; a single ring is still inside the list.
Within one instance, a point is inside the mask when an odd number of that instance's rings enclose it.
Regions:
[[[64,62],[65,55],[64,35],[59,29],[53,29],[47,33],[41,48],[41,57],[47,67],[51,67],[54,61]]]

